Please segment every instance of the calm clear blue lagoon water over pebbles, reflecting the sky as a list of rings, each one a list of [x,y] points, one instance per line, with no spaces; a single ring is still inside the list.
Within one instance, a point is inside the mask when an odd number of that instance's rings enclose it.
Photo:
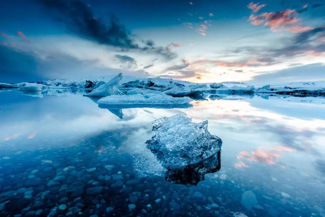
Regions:
[[[324,98],[207,95],[172,109],[100,108],[59,90],[0,99],[1,216],[325,216]],[[196,186],[166,180],[146,148],[150,122],[175,114],[208,120],[223,141],[220,168]]]

